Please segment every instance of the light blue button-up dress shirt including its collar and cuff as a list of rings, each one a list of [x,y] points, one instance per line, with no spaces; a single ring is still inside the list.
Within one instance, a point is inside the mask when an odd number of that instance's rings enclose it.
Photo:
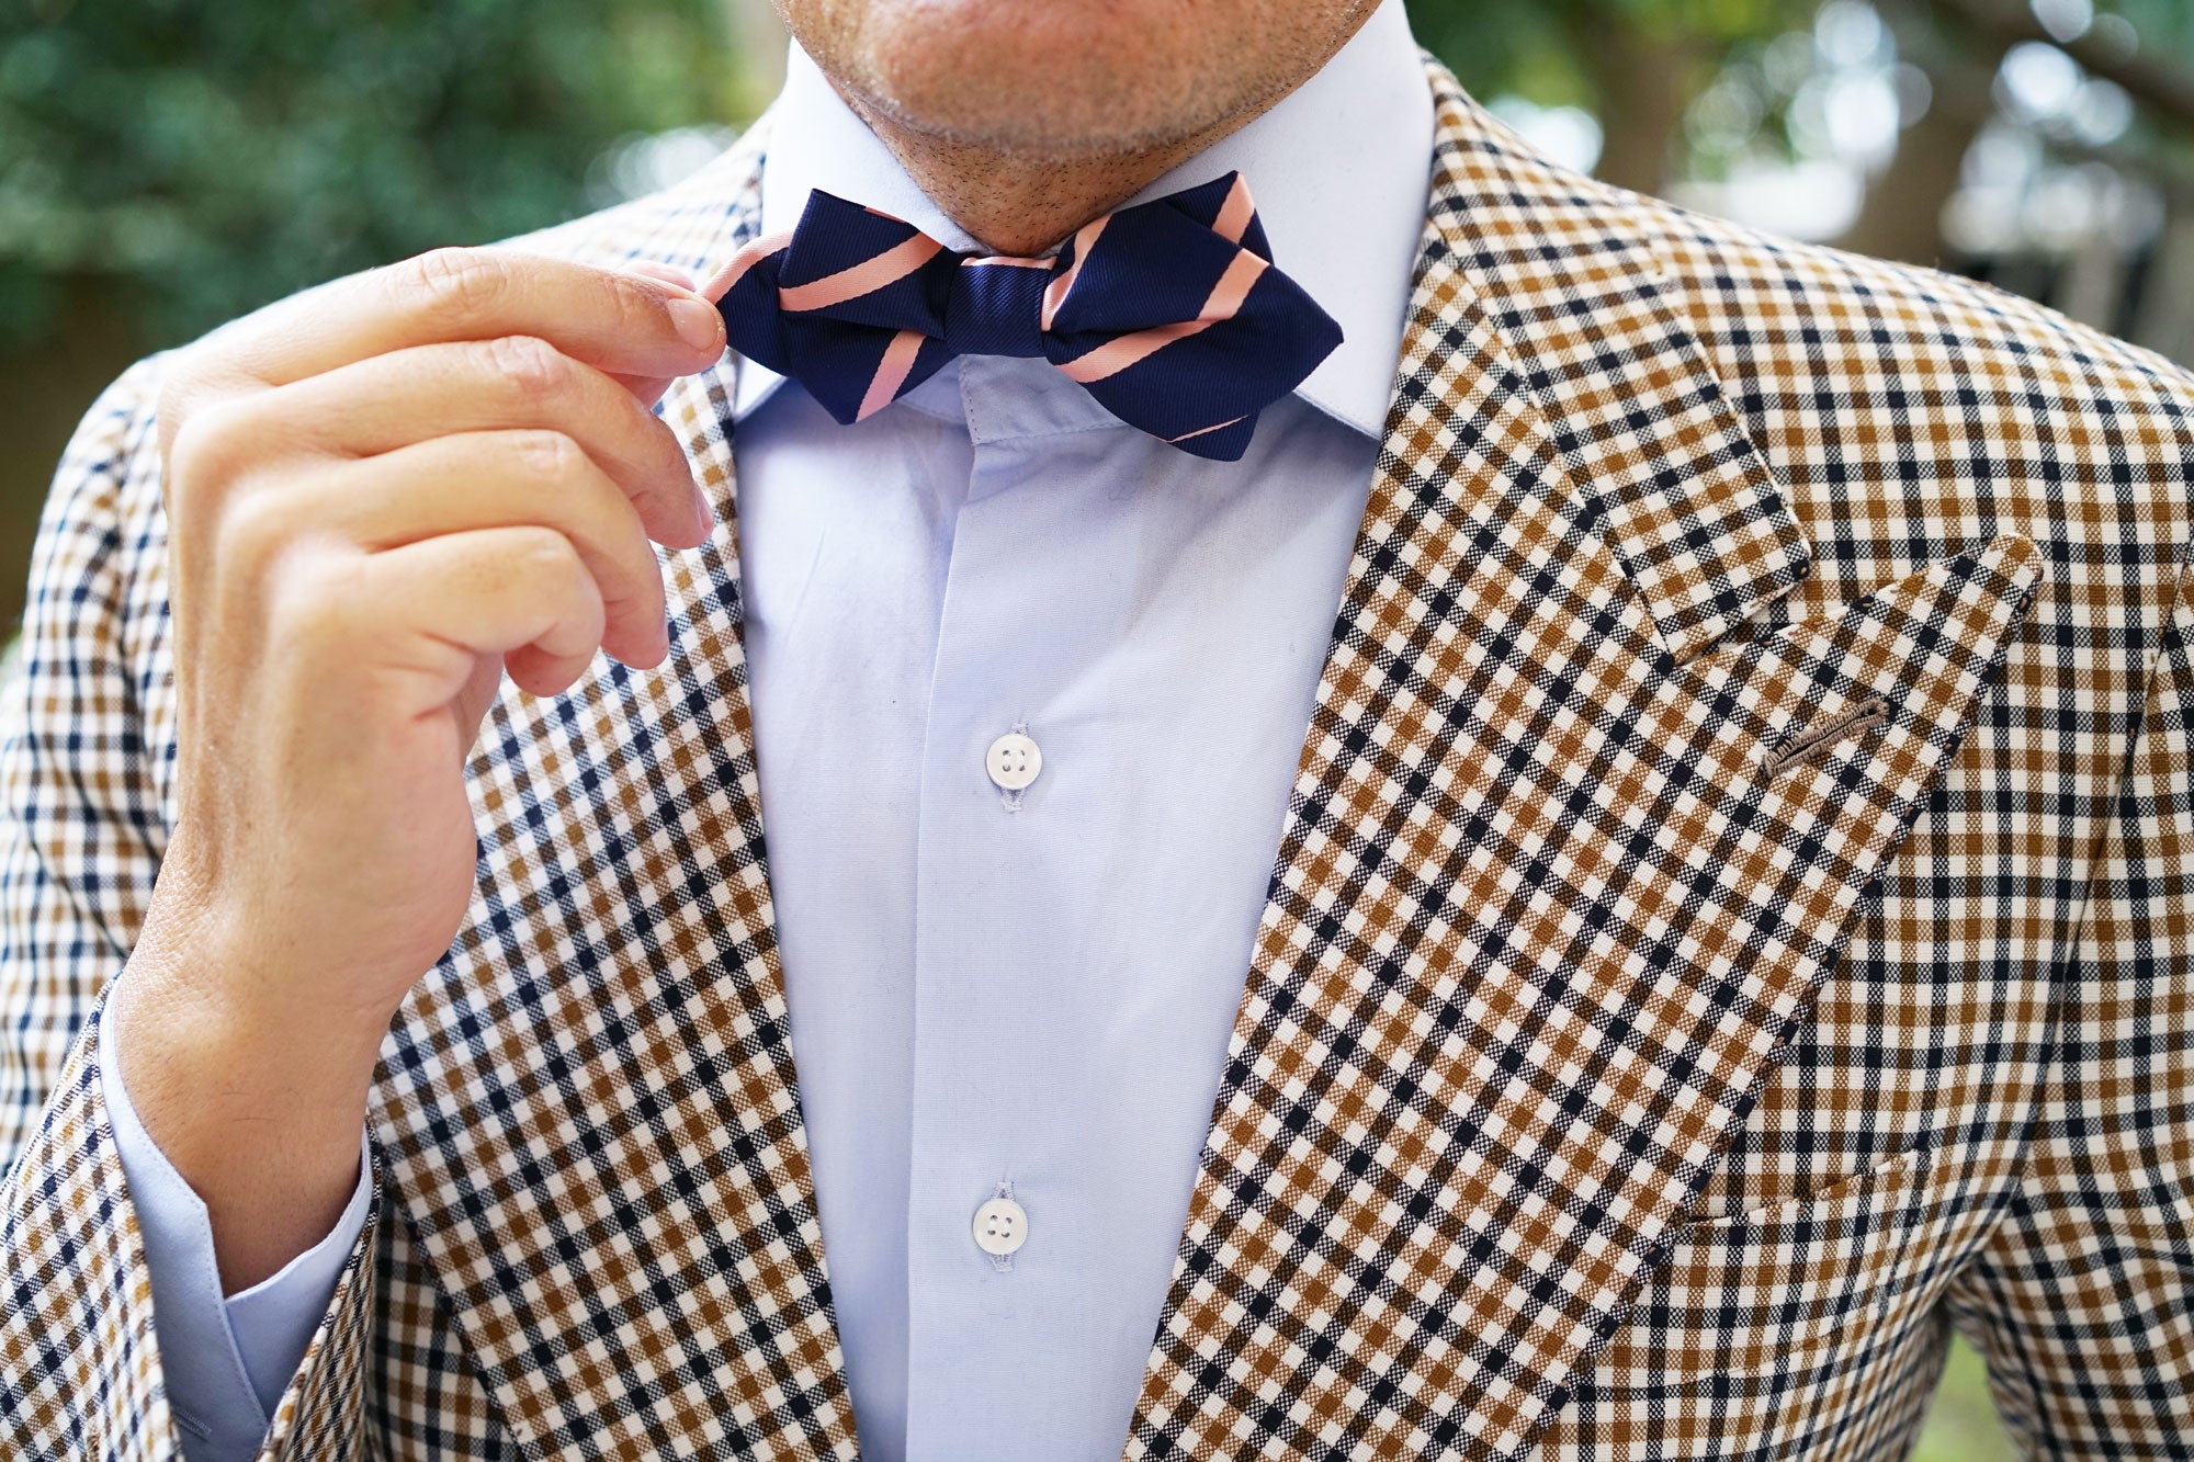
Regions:
[[[810,189],[946,220],[792,50],[764,230]],[[1345,342],[1237,463],[1042,360],[961,358],[838,426],[744,367],[739,555],[761,808],[862,1453],[1117,1458],[1341,604],[1424,226],[1400,0],[1139,198],[1240,169]],[[1033,784],[996,786],[1022,731]],[[222,1297],[204,1205],[108,1098],[191,1462],[248,1458],[360,1225]],[[1011,1256],[976,1210],[1025,1212]]]

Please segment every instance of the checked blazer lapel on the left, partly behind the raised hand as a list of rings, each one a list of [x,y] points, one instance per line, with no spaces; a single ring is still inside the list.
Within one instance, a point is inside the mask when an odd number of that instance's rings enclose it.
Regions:
[[[665,226],[680,263],[755,230],[759,130],[711,171],[706,217]],[[764,865],[731,391],[726,358],[665,397],[720,518],[667,555],[667,663],[597,661],[555,700],[505,683],[489,711],[470,920],[375,1089],[397,1207],[529,1455],[853,1455]]]

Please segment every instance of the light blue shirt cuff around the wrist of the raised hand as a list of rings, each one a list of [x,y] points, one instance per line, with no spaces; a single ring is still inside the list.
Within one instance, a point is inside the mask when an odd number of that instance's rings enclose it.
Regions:
[[[99,1084],[145,1240],[167,1401],[191,1462],[252,1458],[366,1227],[371,1148],[360,1135],[358,1188],[327,1238],[279,1273],[224,1297],[213,1216],[129,1104],[112,1025],[112,1019],[99,1021]]]

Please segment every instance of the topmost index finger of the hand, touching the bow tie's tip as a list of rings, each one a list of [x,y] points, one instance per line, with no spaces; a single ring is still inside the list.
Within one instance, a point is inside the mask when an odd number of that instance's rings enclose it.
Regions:
[[[614,375],[691,375],[724,353],[724,316],[658,274],[437,248],[276,301],[202,349],[217,373],[283,386],[415,345],[502,336],[535,336]]]

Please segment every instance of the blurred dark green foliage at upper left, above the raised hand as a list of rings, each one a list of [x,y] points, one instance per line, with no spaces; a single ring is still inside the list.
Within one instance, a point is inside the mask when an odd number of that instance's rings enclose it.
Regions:
[[[0,0],[0,342],[70,277],[167,342],[581,213],[612,140],[737,79],[717,0]]]

